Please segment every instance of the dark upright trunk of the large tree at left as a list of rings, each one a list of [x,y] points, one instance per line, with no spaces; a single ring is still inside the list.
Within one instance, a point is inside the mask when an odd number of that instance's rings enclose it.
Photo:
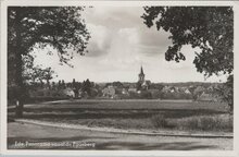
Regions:
[[[16,10],[16,45],[15,45],[15,81],[16,81],[16,108],[15,116],[16,118],[23,117],[24,108],[24,83],[23,83],[23,60],[22,60],[22,41],[21,41],[21,9]]]

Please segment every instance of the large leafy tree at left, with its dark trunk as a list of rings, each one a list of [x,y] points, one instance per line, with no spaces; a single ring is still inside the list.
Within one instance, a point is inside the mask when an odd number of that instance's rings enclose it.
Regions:
[[[23,58],[37,46],[51,46],[58,51],[60,62],[68,63],[76,51],[86,52],[90,35],[80,16],[81,7],[9,7],[8,55],[9,83],[16,86],[16,116],[23,116]]]

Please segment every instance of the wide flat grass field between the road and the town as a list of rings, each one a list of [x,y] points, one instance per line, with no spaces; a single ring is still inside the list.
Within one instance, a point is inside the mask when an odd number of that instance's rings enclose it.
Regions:
[[[13,117],[14,108],[10,108]],[[190,100],[63,100],[26,105],[25,119],[121,129],[232,131],[226,104]]]

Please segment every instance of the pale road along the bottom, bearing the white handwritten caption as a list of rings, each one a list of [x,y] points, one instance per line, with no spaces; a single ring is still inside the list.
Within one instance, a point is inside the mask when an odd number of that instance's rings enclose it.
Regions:
[[[128,135],[8,123],[8,147],[38,149],[201,150],[232,149],[232,138]]]

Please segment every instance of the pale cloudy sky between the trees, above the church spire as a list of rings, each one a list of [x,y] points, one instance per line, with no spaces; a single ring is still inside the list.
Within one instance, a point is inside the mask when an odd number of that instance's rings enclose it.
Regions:
[[[160,82],[224,82],[226,76],[211,76],[197,72],[192,63],[194,51],[190,46],[184,46],[181,52],[186,61],[176,63],[165,60],[165,51],[172,44],[169,33],[148,28],[140,17],[143,9],[140,7],[95,7],[83,12],[91,38],[87,46],[88,53],[75,55],[71,63],[74,68],[61,65],[56,52],[46,56],[52,50],[35,49],[36,64],[51,67],[58,74],[53,81],[65,82],[137,82],[142,65],[146,80]]]

